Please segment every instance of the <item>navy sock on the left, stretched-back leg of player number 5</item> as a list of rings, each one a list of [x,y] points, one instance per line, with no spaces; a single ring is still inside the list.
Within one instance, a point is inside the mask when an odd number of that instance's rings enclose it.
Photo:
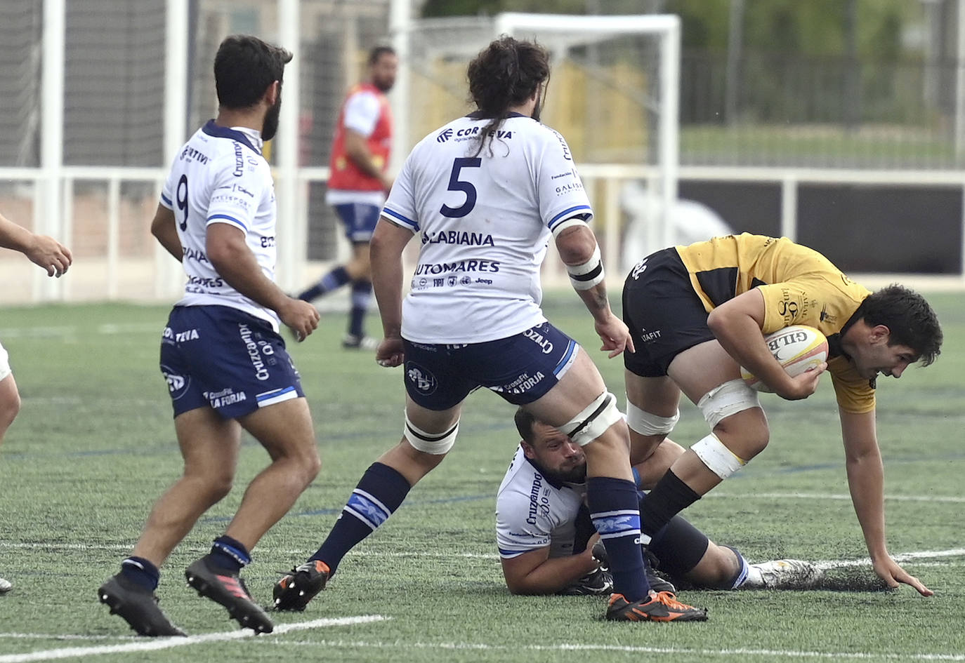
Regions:
[[[332,531],[309,559],[321,560],[334,574],[345,554],[392,516],[411,488],[394,468],[372,463],[352,491]]]

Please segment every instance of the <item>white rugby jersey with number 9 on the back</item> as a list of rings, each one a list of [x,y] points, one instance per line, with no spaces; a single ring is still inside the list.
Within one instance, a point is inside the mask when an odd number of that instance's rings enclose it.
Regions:
[[[275,188],[262,156],[261,133],[208,120],[175,157],[161,204],[174,211],[187,275],[177,305],[233,306],[268,321],[277,332],[277,314],[225,282],[207,259],[205,243],[210,224],[241,228],[262,273],[274,280]]]

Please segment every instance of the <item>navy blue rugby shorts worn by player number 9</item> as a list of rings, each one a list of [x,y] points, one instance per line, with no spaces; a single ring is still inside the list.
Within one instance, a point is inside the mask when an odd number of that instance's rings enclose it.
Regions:
[[[234,419],[305,395],[281,335],[231,306],[175,306],[160,364],[175,416],[210,407]]]

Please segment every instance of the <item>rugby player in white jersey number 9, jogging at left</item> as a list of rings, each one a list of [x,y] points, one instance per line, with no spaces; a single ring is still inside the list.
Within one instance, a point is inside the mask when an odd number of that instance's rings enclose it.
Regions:
[[[262,142],[278,127],[291,54],[254,37],[222,41],[214,59],[218,117],[180,149],[152,233],[187,275],[161,338],[184,473],[155,503],[121,572],[97,596],[141,635],[184,635],[157,607],[158,569],[234,480],[241,430],[269,464],[248,485],[225,534],[185,571],[201,596],[256,633],[273,625],[239,577],[250,551],[315,478],[318,454],[298,372],[279,335],[299,340],[314,306],[274,283],[276,205]]]

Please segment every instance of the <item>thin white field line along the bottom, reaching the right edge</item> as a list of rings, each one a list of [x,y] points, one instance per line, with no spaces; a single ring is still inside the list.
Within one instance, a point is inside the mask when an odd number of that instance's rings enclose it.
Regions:
[[[646,625],[643,626],[647,628]],[[384,649],[384,650],[483,650],[483,651],[620,651],[626,653],[666,653],[666,654],[698,654],[703,657],[749,657],[749,656],[780,656],[782,658],[816,658],[830,660],[862,660],[862,661],[965,661],[965,654],[961,653],[866,653],[861,651],[813,651],[813,650],[751,650],[751,649],[721,649],[698,650],[678,647],[640,647],[633,645],[591,645],[580,643],[561,643],[560,645],[489,645],[485,643],[400,643],[400,642],[366,642],[358,640],[317,640],[317,641],[284,641],[273,643],[260,641],[260,644],[282,645],[296,647],[324,647],[351,649]],[[512,656],[515,658],[516,656]]]

